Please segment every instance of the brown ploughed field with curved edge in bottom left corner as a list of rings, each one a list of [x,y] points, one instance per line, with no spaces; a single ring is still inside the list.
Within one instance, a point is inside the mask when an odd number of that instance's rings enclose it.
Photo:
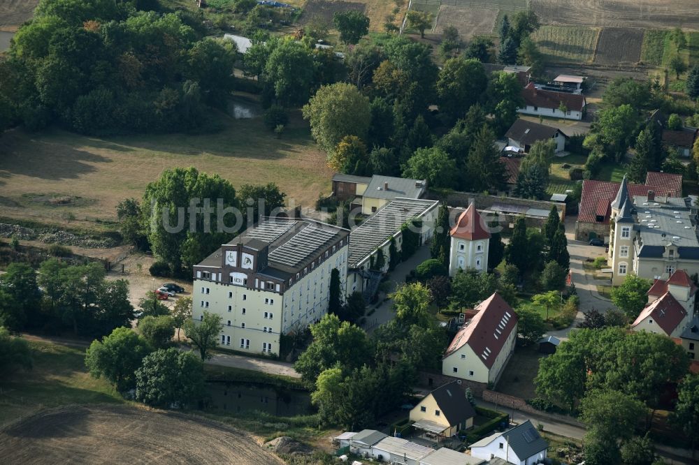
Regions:
[[[222,423],[129,406],[42,411],[0,429],[0,457],[6,465],[283,464]]]

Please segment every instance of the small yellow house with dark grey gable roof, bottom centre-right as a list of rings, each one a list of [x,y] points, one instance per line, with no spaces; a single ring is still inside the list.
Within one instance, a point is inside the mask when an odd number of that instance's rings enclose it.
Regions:
[[[441,439],[473,427],[475,415],[461,381],[452,381],[427,394],[410,411],[410,420],[426,436]]]

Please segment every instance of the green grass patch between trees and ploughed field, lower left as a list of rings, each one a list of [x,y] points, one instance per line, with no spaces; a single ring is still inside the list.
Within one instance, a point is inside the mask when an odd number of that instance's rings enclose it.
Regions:
[[[34,367],[0,381],[0,426],[43,407],[124,403],[108,382],[85,368],[85,349],[29,342]]]

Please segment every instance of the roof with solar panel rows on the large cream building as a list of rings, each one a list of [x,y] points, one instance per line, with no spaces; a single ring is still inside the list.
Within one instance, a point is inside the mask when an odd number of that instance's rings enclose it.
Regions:
[[[349,231],[311,219],[264,218],[228,244],[243,244],[251,249],[268,247],[268,266],[261,274],[286,279],[303,269],[331,244]],[[222,249],[205,258],[199,266],[220,267]]]

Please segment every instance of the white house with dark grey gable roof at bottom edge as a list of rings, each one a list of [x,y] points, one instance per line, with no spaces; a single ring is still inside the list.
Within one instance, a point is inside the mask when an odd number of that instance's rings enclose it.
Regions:
[[[513,465],[534,465],[543,462],[549,444],[540,436],[530,420],[471,444],[471,457],[503,459]]]

